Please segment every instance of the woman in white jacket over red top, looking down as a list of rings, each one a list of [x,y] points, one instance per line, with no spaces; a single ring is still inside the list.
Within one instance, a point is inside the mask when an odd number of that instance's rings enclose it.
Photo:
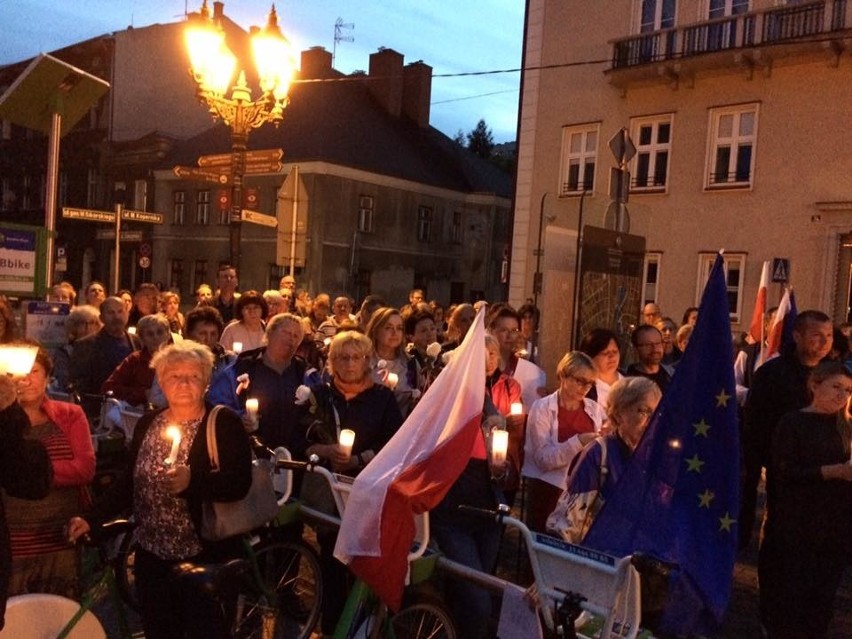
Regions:
[[[556,367],[556,375],[559,389],[530,409],[521,471],[529,479],[526,523],[538,532],[544,532],[547,516],[565,490],[571,461],[598,436],[606,421],[600,404],[586,397],[597,378],[588,355],[567,353]]]

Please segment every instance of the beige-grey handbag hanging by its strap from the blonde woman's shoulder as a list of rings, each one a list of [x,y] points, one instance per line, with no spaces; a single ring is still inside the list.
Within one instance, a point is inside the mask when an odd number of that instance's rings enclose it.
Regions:
[[[207,417],[207,454],[211,472],[219,471],[219,449],[216,443],[216,406]],[[201,511],[201,537],[218,541],[241,535],[263,526],[278,513],[278,500],[272,484],[273,465],[265,459],[252,460],[251,488],[238,501],[205,501]]]

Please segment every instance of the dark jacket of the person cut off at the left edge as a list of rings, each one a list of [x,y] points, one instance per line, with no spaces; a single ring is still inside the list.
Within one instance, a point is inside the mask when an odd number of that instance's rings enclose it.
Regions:
[[[44,446],[24,439],[27,426],[27,414],[17,403],[0,411],[0,488],[15,497],[42,499],[50,491],[53,471]],[[0,630],[5,623],[11,570],[9,529],[0,500]]]

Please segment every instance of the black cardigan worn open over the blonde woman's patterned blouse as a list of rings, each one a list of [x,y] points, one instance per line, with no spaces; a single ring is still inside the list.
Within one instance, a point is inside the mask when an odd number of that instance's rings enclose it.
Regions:
[[[237,501],[248,493],[251,486],[251,445],[243,429],[242,420],[231,410],[222,410],[216,420],[216,438],[219,447],[220,470],[212,472],[207,456],[207,416],[212,406],[208,404],[198,433],[189,448],[187,465],[191,468],[189,487],[181,494],[189,506],[196,531],[201,530],[201,505],[205,501]],[[165,409],[164,409],[165,410]],[[126,471],[98,500],[85,519],[97,529],[104,522],[127,513],[133,507],[133,473],[136,458],[145,434],[162,410],[143,416],[133,432],[130,444],[130,463]],[[200,534],[199,534],[200,538]],[[205,561],[234,556],[240,552],[238,538],[220,542],[202,540]]]

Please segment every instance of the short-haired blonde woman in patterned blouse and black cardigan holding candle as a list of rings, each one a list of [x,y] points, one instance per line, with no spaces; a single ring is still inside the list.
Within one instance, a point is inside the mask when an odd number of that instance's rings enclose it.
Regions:
[[[215,424],[219,468],[210,467],[204,391],[213,370],[210,349],[191,340],[172,344],[151,361],[169,407],[136,426],[127,472],[92,513],[69,522],[74,540],[90,527],[132,508],[136,518],[136,586],[148,639],[228,636],[221,606],[193,584],[174,577],[184,561],[219,563],[241,555],[239,537],[201,538],[202,503],[242,499],[251,485],[251,447],[239,415],[224,408]],[[170,426],[181,432],[177,458]]]

